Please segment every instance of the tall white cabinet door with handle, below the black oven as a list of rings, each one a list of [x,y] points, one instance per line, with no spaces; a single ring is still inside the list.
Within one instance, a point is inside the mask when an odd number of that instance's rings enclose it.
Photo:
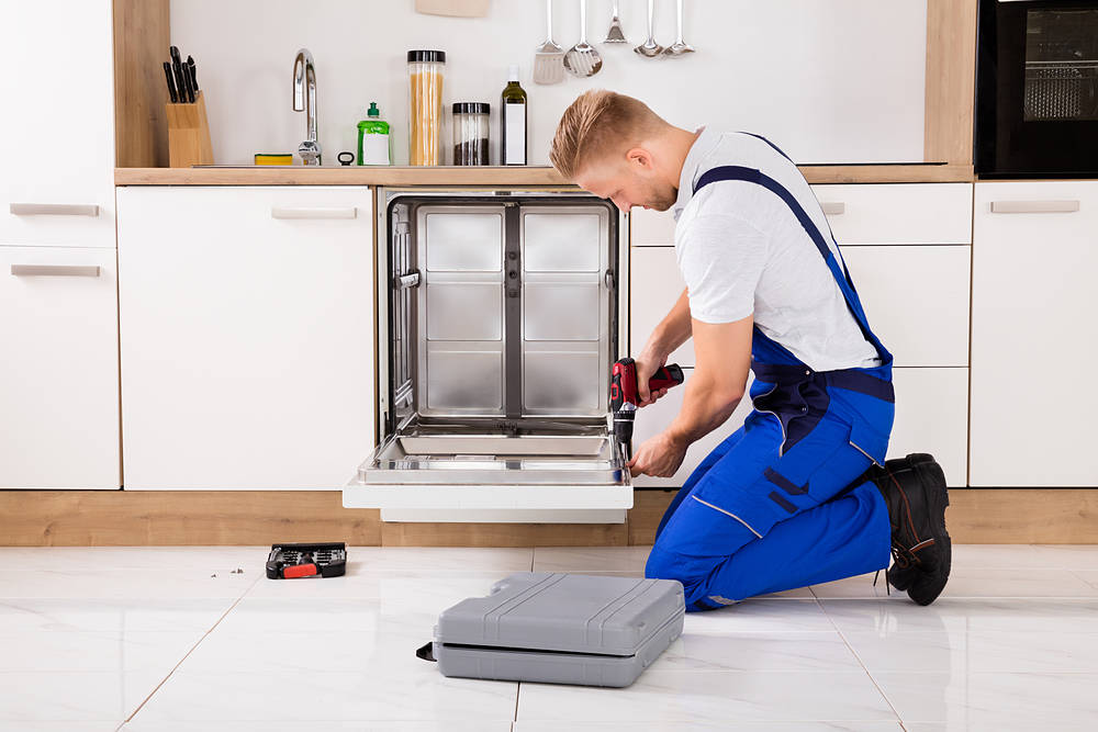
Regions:
[[[971,484],[1098,486],[1098,182],[978,183]]]

